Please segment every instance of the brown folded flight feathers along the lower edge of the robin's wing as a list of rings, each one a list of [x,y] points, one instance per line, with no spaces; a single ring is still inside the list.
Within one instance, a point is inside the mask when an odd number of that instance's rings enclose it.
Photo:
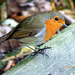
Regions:
[[[16,32],[14,32],[13,35],[11,35],[11,39],[19,39],[19,38],[25,38],[27,36],[33,36],[35,35],[36,32],[32,31],[32,30],[27,30],[27,29],[24,29],[24,28],[19,28],[19,30],[16,30]]]

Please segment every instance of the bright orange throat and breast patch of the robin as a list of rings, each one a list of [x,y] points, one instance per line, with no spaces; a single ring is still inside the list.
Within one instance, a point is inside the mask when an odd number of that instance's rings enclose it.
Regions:
[[[46,34],[44,37],[44,42],[51,39],[55,35],[56,31],[62,26],[60,23],[50,19],[46,20],[45,24],[46,24]]]

